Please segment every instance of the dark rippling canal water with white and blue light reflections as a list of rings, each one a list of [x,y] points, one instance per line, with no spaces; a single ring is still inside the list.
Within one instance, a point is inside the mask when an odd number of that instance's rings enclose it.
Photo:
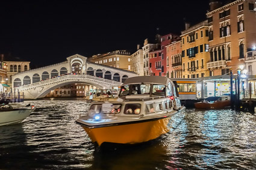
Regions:
[[[256,169],[256,118],[249,113],[187,109],[160,142],[95,149],[75,123],[84,101],[27,101],[36,111],[0,127],[0,169]]]

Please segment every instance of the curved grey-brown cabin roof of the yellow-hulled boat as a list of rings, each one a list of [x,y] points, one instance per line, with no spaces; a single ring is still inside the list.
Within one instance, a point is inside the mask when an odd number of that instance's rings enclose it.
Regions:
[[[167,85],[169,82],[171,82],[170,79],[162,76],[136,76],[126,79],[123,85],[138,83],[153,83],[159,85]]]

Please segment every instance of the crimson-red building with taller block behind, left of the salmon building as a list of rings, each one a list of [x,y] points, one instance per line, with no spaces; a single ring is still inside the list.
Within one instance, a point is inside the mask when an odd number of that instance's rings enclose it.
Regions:
[[[158,49],[149,52],[149,70],[151,75],[167,76],[166,46],[179,38],[178,35],[167,34],[161,36],[161,43]]]

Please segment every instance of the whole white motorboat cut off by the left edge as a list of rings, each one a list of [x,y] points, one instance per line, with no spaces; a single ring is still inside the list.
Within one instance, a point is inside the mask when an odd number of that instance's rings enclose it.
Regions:
[[[11,105],[0,106],[0,126],[21,123],[33,111],[34,106],[26,106],[25,108],[13,108]]]

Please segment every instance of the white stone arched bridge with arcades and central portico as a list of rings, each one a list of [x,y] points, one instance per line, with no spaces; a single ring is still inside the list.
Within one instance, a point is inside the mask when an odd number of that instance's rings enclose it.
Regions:
[[[119,87],[126,78],[134,76],[137,76],[134,72],[95,64],[76,54],[64,62],[14,74],[12,85],[15,91],[24,93],[24,99],[37,99],[71,83],[86,83],[109,89]]]

